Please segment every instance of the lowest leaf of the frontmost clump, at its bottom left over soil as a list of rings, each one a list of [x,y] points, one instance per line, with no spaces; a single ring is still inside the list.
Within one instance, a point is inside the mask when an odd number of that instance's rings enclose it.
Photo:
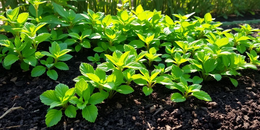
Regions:
[[[51,109],[47,112],[45,117],[47,127],[54,126],[61,120],[62,112],[61,110]]]

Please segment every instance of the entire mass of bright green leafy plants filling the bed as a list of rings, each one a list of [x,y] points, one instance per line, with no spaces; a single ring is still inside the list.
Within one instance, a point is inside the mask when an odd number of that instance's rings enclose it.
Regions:
[[[211,101],[200,83],[228,78],[237,87],[234,76],[241,75],[239,70],[257,69],[260,64],[260,38],[250,36],[259,29],[246,24],[233,28],[237,33],[232,34],[231,29],[220,28],[222,23],[214,22],[210,13],[204,18],[190,18],[194,13],[173,14],[178,19],[174,21],[161,11],[147,11],[141,5],[131,11],[118,9],[116,16],[105,16],[90,9],[77,14],[73,8],[64,9],[55,1],[29,2],[29,13],[19,14],[19,8],[15,8],[0,14],[1,20],[6,21],[1,27],[14,36],[0,35],[0,60],[6,69],[18,63],[23,70],[33,68],[33,77],[47,69],[47,75],[56,80],[54,68],[69,69],[63,62],[72,58],[67,53],[87,48],[96,52],[87,59],[98,64],[94,69],[81,63],[82,75],[74,79],[75,88],[58,84],[55,90],[40,96],[50,106],[46,115],[48,127],[61,120],[63,110],[73,118],[81,109],[83,118],[94,122],[95,105],[112,99],[116,93],[134,92],[132,83],[142,86],[146,96],[154,87],[165,86],[180,91],[172,94],[174,102],[191,96]],[[54,15],[42,14],[44,4]],[[123,1],[122,6],[125,4]],[[40,50],[39,43],[51,43],[49,52]]]

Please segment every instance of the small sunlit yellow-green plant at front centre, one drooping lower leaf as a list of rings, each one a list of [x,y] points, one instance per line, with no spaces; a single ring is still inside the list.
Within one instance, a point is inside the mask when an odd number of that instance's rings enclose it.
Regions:
[[[164,85],[170,85],[172,82],[170,79],[164,76],[157,76],[160,74],[161,70],[155,69],[151,72],[151,76],[149,75],[149,72],[145,68],[139,69],[141,74],[137,74],[134,76],[133,79],[134,82],[138,85],[144,86],[142,88],[144,94],[147,96],[153,92],[152,87],[156,84],[164,84]]]

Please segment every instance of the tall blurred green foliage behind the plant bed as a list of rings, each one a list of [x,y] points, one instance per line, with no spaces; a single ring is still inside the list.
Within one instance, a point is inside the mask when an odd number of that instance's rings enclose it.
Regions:
[[[77,13],[82,13],[91,9],[94,12],[104,12],[105,15],[116,15],[116,8],[122,6],[121,0],[49,0],[57,4],[74,8]],[[260,0],[125,0],[125,8],[135,9],[139,4],[144,10],[161,10],[163,14],[171,16],[171,14],[190,14],[196,12],[195,16],[204,16],[210,12],[213,15],[228,18],[229,15],[235,14],[243,16],[243,14],[260,9],[258,3]],[[0,9],[4,11],[9,8],[16,8],[21,6],[24,12],[28,3],[25,0],[0,0],[3,7]],[[131,3],[131,4],[129,4]]]

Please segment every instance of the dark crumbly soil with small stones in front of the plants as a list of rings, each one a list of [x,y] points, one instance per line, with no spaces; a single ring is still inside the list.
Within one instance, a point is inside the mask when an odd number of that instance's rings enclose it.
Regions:
[[[257,26],[259,28],[258,24],[252,25]],[[177,90],[157,84],[153,87],[154,92],[145,96],[142,86],[133,83],[133,93],[117,93],[113,99],[97,105],[99,114],[95,123],[86,121],[81,110],[77,110],[76,118],[63,116],[57,125],[46,128],[48,106],[41,103],[39,95],[59,83],[74,87],[73,79],[81,75],[80,63],[88,63],[87,56],[94,52],[72,52],[71,55],[74,57],[66,62],[69,70],[57,70],[57,81],[46,74],[31,77],[30,71],[22,72],[18,64],[11,70],[0,67],[0,116],[14,104],[14,107],[24,108],[13,110],[0,119],[0,129],[260,129],[260,67],[241,70],[242,76],[233,77],[238,80],[237,87],[225,77],[220,81],[203,82],[202,90],[211,96],[212,102],[191,97],[185,102],[174,103],[170,96]],[[156,110],[151,113],[150,107]],[[162,110],[155,114],[159,109]]]

